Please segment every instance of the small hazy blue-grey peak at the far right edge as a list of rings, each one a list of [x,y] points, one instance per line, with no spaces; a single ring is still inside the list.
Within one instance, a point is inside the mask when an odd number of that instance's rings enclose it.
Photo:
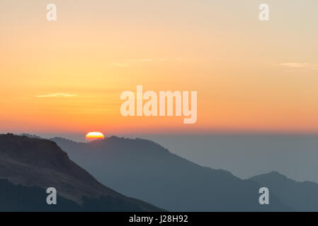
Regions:
[[[270,172],[251,177],[251,180],[263,184],[280,201],[297,211],[318,210],[318,184],[314,182],[297,182],[278,172]]]

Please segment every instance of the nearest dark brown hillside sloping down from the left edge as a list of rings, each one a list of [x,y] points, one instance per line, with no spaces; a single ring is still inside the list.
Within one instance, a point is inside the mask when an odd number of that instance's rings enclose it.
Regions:
[[[46,189],[55,187],[55,206],[46,203]],[[0,210],[158,211],[128,198],[94,179],[69,160],[53,141],[0,135]]]

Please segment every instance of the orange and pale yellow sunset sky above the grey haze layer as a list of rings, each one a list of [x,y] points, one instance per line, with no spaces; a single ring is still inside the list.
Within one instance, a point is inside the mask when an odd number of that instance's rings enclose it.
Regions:
[[[0,132],[317,133],[317,10],[316,0],[1,0]],[[197,91],[196,123],[123,117],[120,93],[136,85]]]

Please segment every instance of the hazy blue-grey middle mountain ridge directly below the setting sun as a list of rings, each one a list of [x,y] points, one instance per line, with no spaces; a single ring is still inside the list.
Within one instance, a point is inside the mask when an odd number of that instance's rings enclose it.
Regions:
[[[172,211],[289,211],[275,194],[259,204],[252,180],[201,167],[157,143],[112,136],[90,143],[52,138],[99,181],[121,193]],[[195,151],[195,150],[193,150]]]

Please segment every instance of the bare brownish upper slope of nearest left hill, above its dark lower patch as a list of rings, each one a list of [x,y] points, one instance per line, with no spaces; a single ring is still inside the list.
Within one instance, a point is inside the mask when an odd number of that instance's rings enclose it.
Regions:
[[[39,187],[53,186],[59,196],[79,206],[93,200],[105,204],[121,203],[123,210],[162,210],[144,201],[128,198],[99,183],[95,178],[69,159],[66,152],[50,140],[0,134],[0,179],[13,185]],[[5,182],[4,182],[5,183]],[[120,208],[113,205],[114,210]],[[108,208],[111,210],[111,208]]]

